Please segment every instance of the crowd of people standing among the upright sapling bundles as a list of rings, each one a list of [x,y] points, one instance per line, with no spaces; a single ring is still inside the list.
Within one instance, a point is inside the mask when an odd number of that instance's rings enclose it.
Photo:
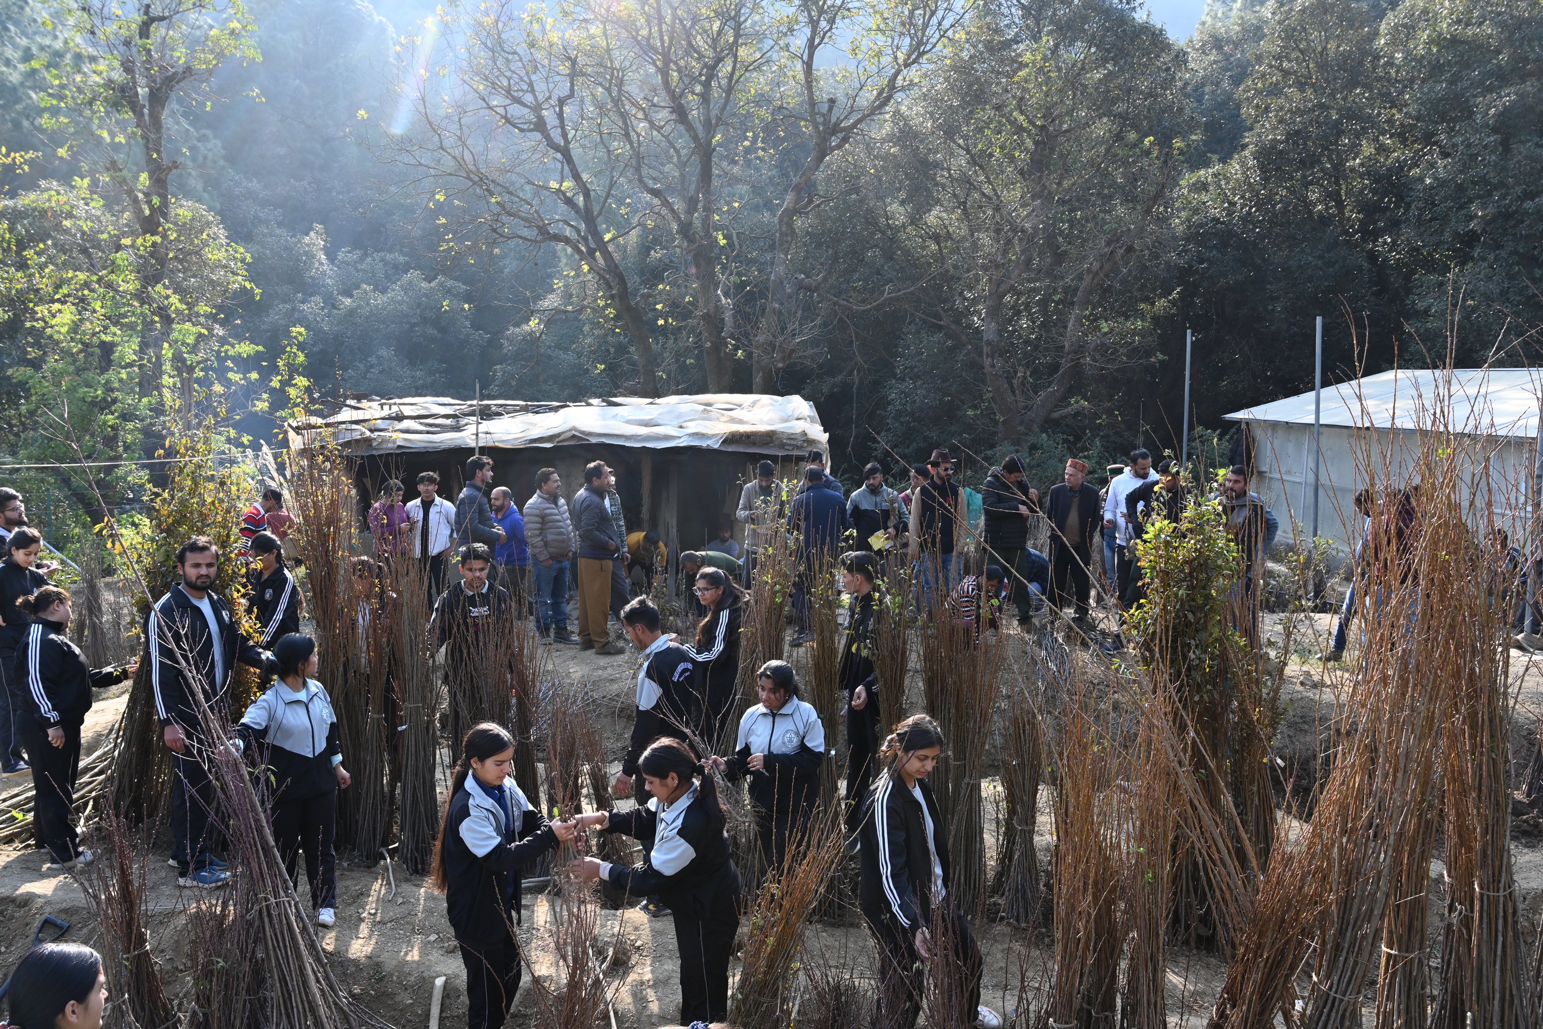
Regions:
[[[785,534],[798,562],[795,645],[812,636],[816,575],[838,572],[847,595],[838,673],[846,694],[839,727],[847,742],[844,821],[849,845],[861,852],[863,912],[878,943],[884,995],[901,1006],[896,1024],[912,1024],[921,1007],[917,958],[930,952],[929,927],[938,924],[934,912],[941,912],[947,946],[958,950],[978,994],[980,952],[947,895],[946,813],[926,787],[944,741],[926,716],[912,716],[892,731],[880,724],[880,693],[903,683],[880,680],[875,606],[900,568],[913,569],[923,614],[955,619],[977,637],[1001,628],[1000,616],[1008,611],[1028,623],[1046,603],[1071,606],[1072,622],[1086,623],[1096,580],[1111,597],[1134,603],[1145,523],[1153,514],[1173,518],[1190,492],[1173,461],[1156,471],[1151,464],[1150,454],[1134,450],[1129,464],[1111,469],[1116,474],[1100,494],[1086,481],[1088,464],[1071,458],[1063,481],[1042,500],[1025,481],[1026,467],[1017,455],[992,467],[980,491],[955,481],[957,463],[946,449],[906,469],[909,488],[903,492],[884,481],[878,464],[867,466],[863,484],[844,494],[821,454],[810,455],[792,488],[762,461],[736,511],[745,525],[744,548],[725,523],[702,551],[677,555],[690,583],[690,609],[697,616],[687,639],[667,631],[648,595],[671,555],[656,532],[628,532],[614,472],[603,463],[585,467],[583,486],[571,498],[563,497],[555,469],[542,469],[523,509],[508,488],[492,484],[488,457],[468,463],[466,486],[454,504],[438,497],[434,472],[418,477],[418,498],[410,504],[401,500],[400,481],[386,483],[367,515],[375,557],[423,562],[435,599],[437,645],[449,643],[451,626],[460,622],[532,617],[543,643],[620,654],[625,640],[640,657],[634,727],[613,782],[616,795],[636,801],[628,811],[548,821],[509,774],[515,744],[506,728],[449,724],[458,764],[443,805],[430,881],[446,893],[466,963],[469,1024],[501,1026],[518,987],[514,932],[522,870],[560,842],[580,839],[585,830],[640,841],[643,861],[637,865],[580,858],[572,873],[603,878],[642,898],[650,915],[671,916],[682,1018],[727,1015],[742,882],[708,773],[747,784],[759,878],[784,867],[813,824],[821,762],[833,750],[838,728],[821,724],[799,697],[793,668],[781,660],[758,670],[758,702],[731,725],[747,589],[775,534]],[[978,520],[971,515],[971,494],[977,492]],[[80,728],[93,690],[133,676],[137,666],[88,668],[66,636],[69,594],[48,580],[49,566],[37,560],[42,540],[26,528],[20,498],[8,494],[0,491],[0,515],[6,518],[0,665],[8,683],[0,691],[8,705],[0,744],[8,773],[32,773],[37,844],[57,865],[77,869],[94,859],[80,847],[73,818]],[[1244,469],[1228,477],[1221,504],[1228,531],[1248,555],[1242,572],[1248,588],[1248,575],[1258,574],[1254,558],[1270,546],[1278,525],[1248,492]],[[6,514],[12,511],[20,514]],[[1034,518],[1046,520],[1048,554],[1029,546]],[[299,631],[301,589],[284,555],[292,526],[278,489],[264,491],[244,514],[239,549],[248,565],[255,637],[211,589],[219,548],[207,537],[187,540],[176,552],[176,585],[147,616],[143,660],[171,751],[170,862],[177,884],[211,889],[230,878],[216,853],[208,761],[211,748],[227,747],[272,770],[259,788],[267,791],[273,839],[292,876],[304,856],[316,921],[332,926],[336,791],[349,787],[350,776],[327,688],[315,679],[316,642]],[[1092,557],[1099,549],[1102,563]],[[974,566],[966,566],[966,552]],[[460,582],[446,585],[452,568]],[[568,623],[569,575],[576,579],[577,633]],[[619,639],[611,636],[611,620],[620,628]],[[262,670],[272,685],[233,719],[238,663]],[[452,694],[460,688],[455,674],[489,673],[475,662],[447,662]],[[208,737],[208,727],[225,724],[236,727],[231,739]],[[12,750],[17,744],[25,762]],[[978,1024],[995,1026],[1000,1018],[980,1007]]]

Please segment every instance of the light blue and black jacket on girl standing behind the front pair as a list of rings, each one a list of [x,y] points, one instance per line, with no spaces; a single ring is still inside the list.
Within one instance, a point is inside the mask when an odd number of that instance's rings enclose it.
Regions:
[[[765,754],[765,768],[751,771],[750,754]],[[813,705],[788,697],[781,710],[768,711],[758,703],[739,719],[728,778],[748,778],[750,799],[761,810],[790,811],[815,799],[824,757],[826,727]]]

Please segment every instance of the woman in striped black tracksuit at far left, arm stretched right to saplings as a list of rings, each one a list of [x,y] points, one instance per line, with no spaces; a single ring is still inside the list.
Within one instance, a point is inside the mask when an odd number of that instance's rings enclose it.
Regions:
[[[12,665],[11,703],[32,765],[37,835],[54,864],[73,869],[77,859],[89,864],[94,858],[80,850],[69,821],[80,771],[80,727],[91,710],[91,691],[123,682],[136,668],[86,666],[80,649],[65,636],[69,594],[59,586],[22,597],[17,609],[28,616],[29,625]]]

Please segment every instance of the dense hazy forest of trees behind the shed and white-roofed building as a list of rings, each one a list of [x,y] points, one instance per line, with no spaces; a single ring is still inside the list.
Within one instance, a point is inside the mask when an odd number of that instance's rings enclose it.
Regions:
[[[1534,363],[1540,133],[1535,0],[0,0],[0,461],[478,384],[801,393],[847,477],[1176,447],[1187,329],[1210,429],[1316,315]]]

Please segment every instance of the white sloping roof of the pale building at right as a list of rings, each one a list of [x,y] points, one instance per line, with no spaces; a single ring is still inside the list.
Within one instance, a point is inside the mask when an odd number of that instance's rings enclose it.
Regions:
[[[1450,375],[1450,378],[1447,378]],[[1454,432],[1537,438],[1543,372],[1535,369],[1400,369],[1324,387],[1322,424],[1345,429],[1429,427],[1446,407]],[[1313,424],[1313,393],[1298,393],[1227,415],[1233,421]],[[1423,423],[1423,424],[1421,424]]]

